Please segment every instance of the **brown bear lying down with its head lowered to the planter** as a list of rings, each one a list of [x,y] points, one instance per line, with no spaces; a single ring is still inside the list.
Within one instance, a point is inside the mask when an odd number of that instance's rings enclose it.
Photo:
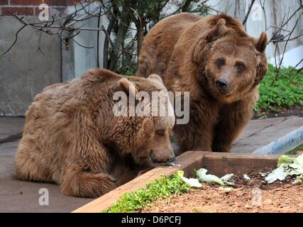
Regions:
[[[167,96],[158,75],[123,77],[108,70],[90,70],[35,96],[16,154],[17,178],[60,184],[67,195],[97,197],[154,162],[175,160],[170,145],[173,112],[115,116],[113,96],[119,91],[128,96],[132,91],[162,91]]]

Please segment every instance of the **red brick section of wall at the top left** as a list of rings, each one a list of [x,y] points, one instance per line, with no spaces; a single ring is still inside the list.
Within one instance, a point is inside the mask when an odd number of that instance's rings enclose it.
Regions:
[[[0,16],[11,16],[11,12],[18,15],[38,15],[40,4],[48,4],[51,9],[62,11],[66,6],[77,4],[79,0],[0,0]]]

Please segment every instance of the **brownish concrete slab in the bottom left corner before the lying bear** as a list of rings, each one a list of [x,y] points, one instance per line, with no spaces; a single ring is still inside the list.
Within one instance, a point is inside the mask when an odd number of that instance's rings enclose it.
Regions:
[[[18,141],[0,144],[0,213],[2,212],[70,212],[92,199],[65,196],[59,186],[23,182],[14,178],[14,156]],[[48,189],[49,205],[41,206],[40,189]]]

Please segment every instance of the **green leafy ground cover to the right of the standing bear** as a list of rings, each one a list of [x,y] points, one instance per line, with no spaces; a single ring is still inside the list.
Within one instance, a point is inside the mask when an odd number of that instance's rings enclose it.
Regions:
[[[272,84],[275,67],[268,65],[268,72],[260,82],[260,99],[254,111],[280,111],[282,107],[303,106],[303,70],[296,73],[292,67],[281,68],[277,81]]]

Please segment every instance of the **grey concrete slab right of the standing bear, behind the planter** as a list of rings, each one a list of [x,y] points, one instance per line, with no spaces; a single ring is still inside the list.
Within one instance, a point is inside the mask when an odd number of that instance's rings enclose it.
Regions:
[[[303,118],[299,116],[250,121],[231,151],[233,153],[253,153],[302,126]]]

